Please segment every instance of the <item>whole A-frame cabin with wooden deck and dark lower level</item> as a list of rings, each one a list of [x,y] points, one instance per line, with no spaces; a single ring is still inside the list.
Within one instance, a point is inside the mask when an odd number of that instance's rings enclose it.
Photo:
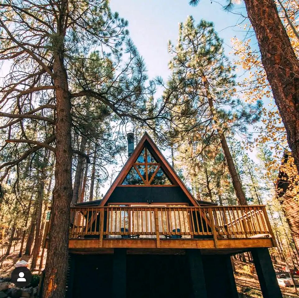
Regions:
[[[103,199],[71,207],[67,297],[237,298],[230,256],[251,251],[281,298],[273,246],[265,206],[197,201],[145,133]]]

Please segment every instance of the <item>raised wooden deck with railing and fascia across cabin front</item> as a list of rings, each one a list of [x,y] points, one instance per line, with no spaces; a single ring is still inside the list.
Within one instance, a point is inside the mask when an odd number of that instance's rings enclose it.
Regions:
[[[273,247],[265,206],[71,207],[70,250]]]

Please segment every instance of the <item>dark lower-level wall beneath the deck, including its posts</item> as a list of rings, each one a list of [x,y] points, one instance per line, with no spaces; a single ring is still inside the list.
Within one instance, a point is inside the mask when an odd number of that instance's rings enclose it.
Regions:
[[[67,298],[237,298],[229,255],[71,254]]]

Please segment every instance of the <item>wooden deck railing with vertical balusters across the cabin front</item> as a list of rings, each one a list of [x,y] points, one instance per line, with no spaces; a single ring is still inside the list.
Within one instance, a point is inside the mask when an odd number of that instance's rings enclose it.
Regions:
[[[70,239],[273,237],[265,206],[71,207]]]

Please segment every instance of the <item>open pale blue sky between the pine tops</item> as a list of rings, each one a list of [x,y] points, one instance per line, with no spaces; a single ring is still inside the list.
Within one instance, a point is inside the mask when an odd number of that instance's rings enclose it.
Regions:
[[[179,22],[184,22],[188,15],[196,22],[201,19],[214,22],[215,29],[228,45],[226,55],[230,52],[230,38],[244,36],[244,30],[234,26],[243,20],[237,13],[246,16],[244,4],[235,5],[235,13],[229,13],[210,0],[202,0],[197,7],[188,3],[189,0],[111,0],[111,10],[118,11],[120,17],[129,21],[130,37],[144,58],[149,78],[159,75],[167,79],[168,40],[176,44]],[[225,4],[225,0],[220,3]]]

